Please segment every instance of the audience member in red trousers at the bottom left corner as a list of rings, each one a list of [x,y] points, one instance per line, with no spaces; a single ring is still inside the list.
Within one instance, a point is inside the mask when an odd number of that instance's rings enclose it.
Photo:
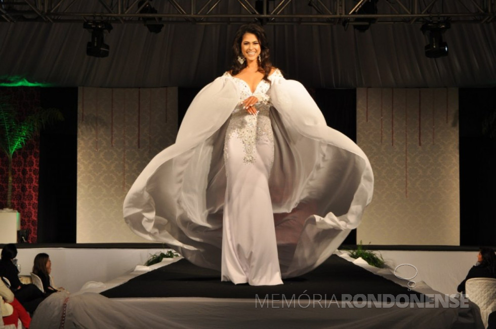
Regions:
[[[31,317],[26,312],[21,303],[14,297],[14,293],[0,280],[0,310],[2,310],[2,319],[4,325],[14,324],[17,327],[19,319],[22,325],[27,329],[31,323]]]

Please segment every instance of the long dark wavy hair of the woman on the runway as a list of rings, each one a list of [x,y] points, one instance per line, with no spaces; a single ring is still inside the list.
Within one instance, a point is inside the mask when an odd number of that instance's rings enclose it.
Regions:
[[[264,73],[264,80],[269,80],[268,76],[270,74],[270,70],[272,69],[272,64],[270,63],[270,55],[269,55],[269,44],[267,43],[267,35],[265,34],[264,28],[257,23],[248,23],[243,24],[239,27],[234,36],[234,42],[232,44],[232,65],[230,72],[232,75],[238,74],[243,68],[246,67],[246,61],[243,64],[238,62],[238,56],[244,57],[241,52],[241,42],[243,40],[243,35],[245,33],[252,33],[257,36],[257,39],[260,43],[260,61],[258,63],[259,72]]]

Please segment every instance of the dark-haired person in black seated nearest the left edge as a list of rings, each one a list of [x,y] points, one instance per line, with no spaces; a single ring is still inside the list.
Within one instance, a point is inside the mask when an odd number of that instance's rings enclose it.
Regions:
[[[43,301],[45,295],[32,283],[23,284],[19,280],[19,272],[13,260],[17,256],[17,248],[14,243],[8,243],[2,249],[0,259],[0,277],[8,280],[10,290],[15,298],[24,306],[26,311],[33,314],[38,304]]]

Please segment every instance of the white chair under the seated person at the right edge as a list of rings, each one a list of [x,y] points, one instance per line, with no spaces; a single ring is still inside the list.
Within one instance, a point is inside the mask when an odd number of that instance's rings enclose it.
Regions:
[[[465,293],[480,309],[480,316],[487,328],[487,318],[496,311],[496,279],[474,277],[465,282]]]

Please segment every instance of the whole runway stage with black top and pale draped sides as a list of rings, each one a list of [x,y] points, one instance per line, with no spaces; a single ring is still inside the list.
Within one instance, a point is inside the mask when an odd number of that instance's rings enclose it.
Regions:
[[[45,325],[57,327],[65,303],[66,328],[482,328],[473,303],[435,304],[445,295],[422,282],[409,292],[402,281],[343,255],[278,286],[221,282],[217,271],[166,260],[75,294],[53,294],[40,307],[51,312]],[[42,327],[37,317],[33,328]]]

